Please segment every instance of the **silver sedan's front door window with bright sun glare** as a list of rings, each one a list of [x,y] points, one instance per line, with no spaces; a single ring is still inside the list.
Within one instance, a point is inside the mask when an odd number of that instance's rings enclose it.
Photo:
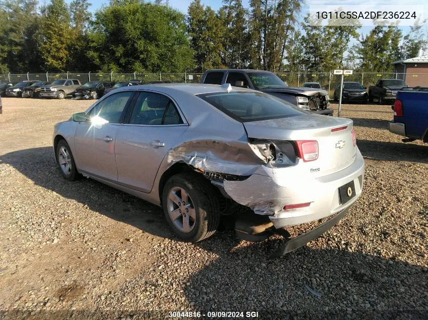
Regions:
[[[87,116],[92,122],[101,124],[119,123],[126,104],[133,94],[133,91],[126,91],[108,96],[92,108]]]

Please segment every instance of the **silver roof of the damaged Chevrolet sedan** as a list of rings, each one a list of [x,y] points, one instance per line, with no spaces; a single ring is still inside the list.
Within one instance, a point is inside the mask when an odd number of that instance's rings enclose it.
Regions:
[[[164,93],[173,93],[179,91],[190,95],[208,94],[213,92],[227,92],[226,86],[222,87],[218,84],[205,84],[205,83],[156,83],[156,84],[142,84],[123,87],[121,90],[135,90],[135,89],[148,89],[155,91],[162,91]],[[233,91],[254,91],[252,89],[233,87]]]

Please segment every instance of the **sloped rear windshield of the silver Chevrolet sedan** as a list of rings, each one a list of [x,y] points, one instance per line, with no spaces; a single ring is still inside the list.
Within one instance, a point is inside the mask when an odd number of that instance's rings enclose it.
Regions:
[[[261,92],[220,92],[197,97],[240,122],[287,118],[306,113],[284,100]]]

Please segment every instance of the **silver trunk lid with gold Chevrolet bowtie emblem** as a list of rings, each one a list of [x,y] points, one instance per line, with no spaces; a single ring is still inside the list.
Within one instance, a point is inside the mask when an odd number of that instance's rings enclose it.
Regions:
[[[244,122],[248,138],[297,141],[316,140],[319,153],[315,161],[299,161],[315,176],[346,168],[356,158],[351,131],[353,121],[320,115],[301,115],[281,119]],[[346,127],[346,128],[343,128]],[[341,128],[337,130],[338,128]],[[333,130],[333,131],[332,131]]]

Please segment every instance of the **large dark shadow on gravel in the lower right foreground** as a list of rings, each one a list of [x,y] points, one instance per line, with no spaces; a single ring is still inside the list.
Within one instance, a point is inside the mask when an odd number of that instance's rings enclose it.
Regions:
[[[197,243],[218,258],[190,275],[187,300],[203,314],[258,311],[259,318],[272,319],[422,319],[427,314],[426,268],[307,246],[269,260],[277,244],[267,240],[237,249],[232,233]]]

